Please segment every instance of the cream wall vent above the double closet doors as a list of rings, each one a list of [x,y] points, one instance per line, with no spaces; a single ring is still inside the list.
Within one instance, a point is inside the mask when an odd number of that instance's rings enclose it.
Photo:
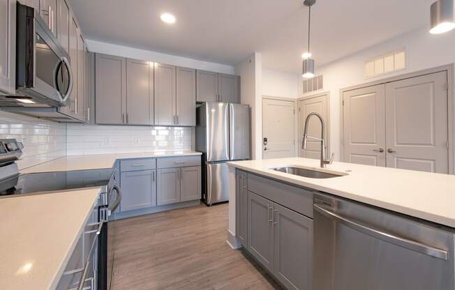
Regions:
[[[406,68],[406,52],[405,49],[396,52],[389,52],[382,56],[375,57],[365,63],[365,77],[378,77],[379,75],[387,75],[398,70]]]

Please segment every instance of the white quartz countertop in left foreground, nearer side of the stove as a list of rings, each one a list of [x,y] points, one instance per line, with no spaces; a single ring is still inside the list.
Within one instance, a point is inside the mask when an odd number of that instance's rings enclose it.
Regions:
[[[54,289],[99,192],[0,199],[0,289]]]

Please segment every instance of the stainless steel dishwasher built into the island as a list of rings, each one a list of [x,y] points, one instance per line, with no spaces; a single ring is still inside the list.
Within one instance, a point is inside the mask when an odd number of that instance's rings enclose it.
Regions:
[[[455,289],[453,229],[328,194],[313,209],[313,289]]]

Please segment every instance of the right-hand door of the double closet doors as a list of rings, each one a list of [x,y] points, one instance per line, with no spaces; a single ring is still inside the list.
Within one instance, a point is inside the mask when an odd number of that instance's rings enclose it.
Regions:
[[[447,73],[386,84],[387,167],[449,173]]]

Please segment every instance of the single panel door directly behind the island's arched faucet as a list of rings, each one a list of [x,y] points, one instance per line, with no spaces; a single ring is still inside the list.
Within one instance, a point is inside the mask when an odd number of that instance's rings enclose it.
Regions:
[[[299,101],[299,142],[297,142],[297,146],[299,146],[300,156],[304,158],[320,158],[320,141],[314,139],[308,139],[306,142],[306,150],[301,148],[301,142],[304,139],[304,128],[305,128],[305,119],[308,114],[312,112],[316,112],[322,116],[322,119],[325,121],[325,141],[326,141],[326,148],[329,145],[329,134],[328,134],[328,126],[329,126],[329,114],[327,110],[327,94],[316,96],[314,98],[308,98],[305,100]],[[321,137],[321,123],[318,118],[315,116],[311,117],[310,123],[308,124],[308,135],[313,137]]]

